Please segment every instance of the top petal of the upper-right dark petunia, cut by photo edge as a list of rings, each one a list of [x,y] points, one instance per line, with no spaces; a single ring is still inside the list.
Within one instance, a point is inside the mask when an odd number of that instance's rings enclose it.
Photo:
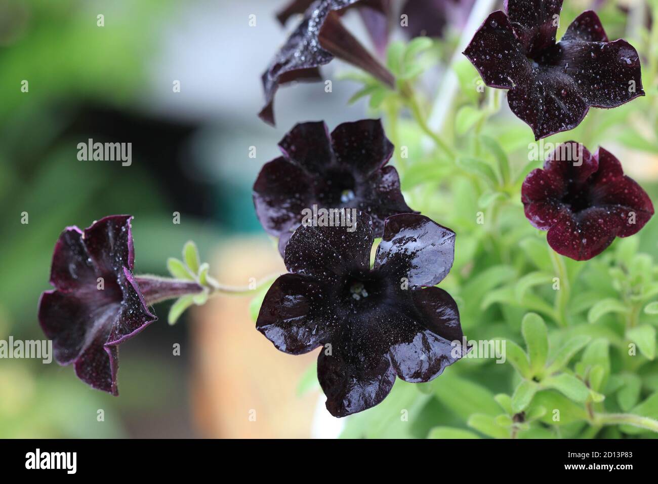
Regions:
[[[528,57],[555,43],[562,0],[505,0],[504,9]]]

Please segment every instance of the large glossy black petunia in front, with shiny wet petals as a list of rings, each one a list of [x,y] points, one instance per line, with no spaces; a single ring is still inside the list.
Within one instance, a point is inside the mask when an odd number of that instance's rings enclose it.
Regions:
[[[274,281],[256,323],[282,352],[322,346],[318,381],[336,417],[382,402],[396,375],[430,381],[461,358],[451,352],[463,338],[457,304],[433,287],[452,266],[455,233],[423,215],[389,217],[370,269],[373,229],[359,212],[353,232],[295,230],[290,273]]]

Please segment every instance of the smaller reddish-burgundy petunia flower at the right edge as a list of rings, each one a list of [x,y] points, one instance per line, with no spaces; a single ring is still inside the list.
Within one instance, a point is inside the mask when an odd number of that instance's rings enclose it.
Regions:
[[[651,199],[612,153],[592,155],[576,142],[558,145],[543,170],[530,172],[521,201],[530,223],[548,230],[551,248],[577,261],[635,234],[653,215]]]

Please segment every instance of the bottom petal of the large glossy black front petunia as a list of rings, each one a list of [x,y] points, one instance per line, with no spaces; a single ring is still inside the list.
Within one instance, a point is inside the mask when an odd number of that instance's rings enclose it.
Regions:
[[[363,365],[350,352],[334,347],[318,356],[318,381],[329,413],[345,417],[382,402],[393,388],[395,371],[388,355]]]

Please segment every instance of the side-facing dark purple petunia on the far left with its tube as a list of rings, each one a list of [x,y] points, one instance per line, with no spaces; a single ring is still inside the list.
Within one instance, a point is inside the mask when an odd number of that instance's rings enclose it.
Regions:
[[[134,277],[131,219],[111,215],[84,231],[67,227],[53,253],[55,289],[41,294],[38,309],[55,360],[73,363],[78,378],[113,395],[118,345],[157,319],[149,303],[203,290],[195,282]]]

